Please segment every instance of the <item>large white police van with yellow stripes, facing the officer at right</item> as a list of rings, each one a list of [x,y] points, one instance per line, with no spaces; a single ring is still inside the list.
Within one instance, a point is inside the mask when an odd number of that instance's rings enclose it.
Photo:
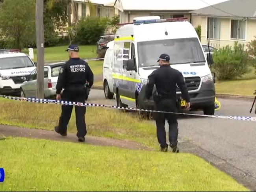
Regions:
[[[213,115],[215,87],[208,66],[213,64],[212,56],[204,55],[198,35],[187,18],[138,17],[117,30],[112,65],[117,105],[153,109],[152,98],[150,101],[145,98],[145,85],[148,76],[159,67],[156,61],[163,53],[170,55],[171,67],[184,76],[191,110]],[[179,107],[184,107],[186,103],[178,87],[177,96]]]

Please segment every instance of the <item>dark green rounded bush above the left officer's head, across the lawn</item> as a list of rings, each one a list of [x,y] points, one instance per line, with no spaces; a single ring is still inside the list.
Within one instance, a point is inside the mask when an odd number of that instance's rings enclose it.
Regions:
[[[96,44],[99,37],[104,35],[108,18],[87,17],[79,21],[78,31],[74,42],[78,44]]]

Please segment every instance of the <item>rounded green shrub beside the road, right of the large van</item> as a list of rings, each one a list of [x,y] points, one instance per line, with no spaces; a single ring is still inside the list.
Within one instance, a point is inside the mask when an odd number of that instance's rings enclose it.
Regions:
[[[234,43],[234,47],[219,48],[213,54],[213,70],[219,80],[237,79],[248,72],[250,57],[244,45]]]

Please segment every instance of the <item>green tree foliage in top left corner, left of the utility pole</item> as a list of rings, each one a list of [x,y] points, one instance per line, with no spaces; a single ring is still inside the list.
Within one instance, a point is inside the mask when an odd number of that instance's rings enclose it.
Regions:
[[[35,0],[5,0],[0,4],[0,31],[13,48],[35,42]]]

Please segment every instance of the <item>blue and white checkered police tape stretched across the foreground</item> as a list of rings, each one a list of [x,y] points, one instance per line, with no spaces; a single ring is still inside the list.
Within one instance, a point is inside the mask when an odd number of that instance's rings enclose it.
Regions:
[[[73,106],[83,106],[83,107],[103,107],[103,108],[111,108],[111,109],[119,109],[119,110],[127,110],[127,111],[143,111],[143,112],[153,112],[153,113],[171,113],[171,114],[187,115],[187,116],[223,118],[223,119],[254,121],[254,122],[256,121],[256,117],[250,117],[250,116],[223,116],[223,115],[174,113],[174,112],[169,112],[169,111],[135,109],[135,108],[132,108],[132,107],[124,108],[124,107],[111,106],[111,105],[102,105],[102,104],[95,104],[95,103],[79,103],[79,102],[49,100],[49,99],[38,99],[38,98],[21,98],[21,97],[12,97],[12,96],[4,96],[4,95],[0,95],[0,98],[6,98],[6,99],[10,99],[10,100],[27,101],[27,102],[33,102],[33,103],[49,103],[49,104],[57,104],[57,105],[73,105]]]

